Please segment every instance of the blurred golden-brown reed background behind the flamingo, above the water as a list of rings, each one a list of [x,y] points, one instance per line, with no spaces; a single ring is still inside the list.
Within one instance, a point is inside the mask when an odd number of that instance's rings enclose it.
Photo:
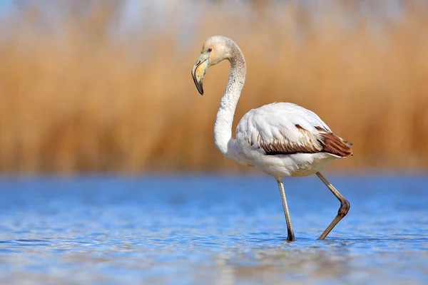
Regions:
[[[0,20],[0,171],[254,171],[215,150],[228,63],[201,98],[209,36],[238,42],[235,124],[274,101],[315,111],[355,155],[337,171],[428,168],[425,1],[16,1]]]

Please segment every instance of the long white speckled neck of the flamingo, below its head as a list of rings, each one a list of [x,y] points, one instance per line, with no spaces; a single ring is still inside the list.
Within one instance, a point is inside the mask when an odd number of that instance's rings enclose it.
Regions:
[[[215,147],[227,157],[233,156],[233,150],[230,149],[231,145],[228,144],[234,142],[232,137],[233,115],[235,115],[236,105],[244,87],[246,73],[245,58],[238,46],[234,46],[229,61],[229,81],[221,99],[214,125]]]

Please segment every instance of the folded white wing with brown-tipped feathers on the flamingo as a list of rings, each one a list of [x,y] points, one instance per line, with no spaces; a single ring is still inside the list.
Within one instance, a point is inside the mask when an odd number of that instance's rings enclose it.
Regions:
[[[350,142],[333,134],[315,113],[292,103],[272,103],[250,110],[240,120],[236,138],[241,147],[248,143],[264,155],[352,155]]]

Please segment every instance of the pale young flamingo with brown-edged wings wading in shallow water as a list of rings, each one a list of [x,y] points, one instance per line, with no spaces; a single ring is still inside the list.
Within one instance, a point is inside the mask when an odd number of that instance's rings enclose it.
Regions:
[[[234,139],[233,116],[246,73],[245,58],[238,44],[225,36],[208,38],[192,68],[192,77],[200,95],[203,95],[203,78],[207,69],[223,60],[230,62],[230,75],[215,118],[215,147],[240,165],[258,167],[275,178],[287,223],[287,241],[290,242],[295,240],[295,234],[283,177],[316,174],[340,201],[335,219],[318,238],[325,239],[345,217],[350,202],[325,179],[320,170],[333,160],[352,155],[352,144],[332,133],[318,115],[293,103],[271,103],[250,110],[240,120]]]

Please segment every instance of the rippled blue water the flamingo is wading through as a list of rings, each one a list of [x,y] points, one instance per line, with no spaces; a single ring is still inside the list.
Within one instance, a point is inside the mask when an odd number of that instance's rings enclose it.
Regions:
[[[0,284],[428,284],[428,177],[0,179]]]

